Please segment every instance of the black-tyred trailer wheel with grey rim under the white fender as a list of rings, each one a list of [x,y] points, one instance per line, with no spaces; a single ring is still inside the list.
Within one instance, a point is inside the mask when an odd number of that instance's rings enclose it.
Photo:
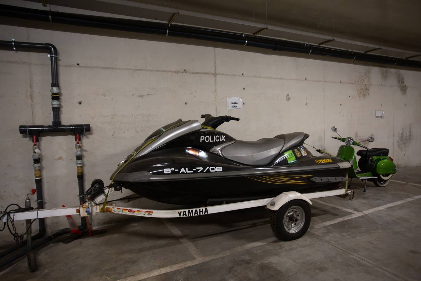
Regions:
[[[285,203],[270,216],[270,226],[274,235],[283,241],[295,240],[303,236],[309,229],[310,221],[310,206],[300,199]]]

